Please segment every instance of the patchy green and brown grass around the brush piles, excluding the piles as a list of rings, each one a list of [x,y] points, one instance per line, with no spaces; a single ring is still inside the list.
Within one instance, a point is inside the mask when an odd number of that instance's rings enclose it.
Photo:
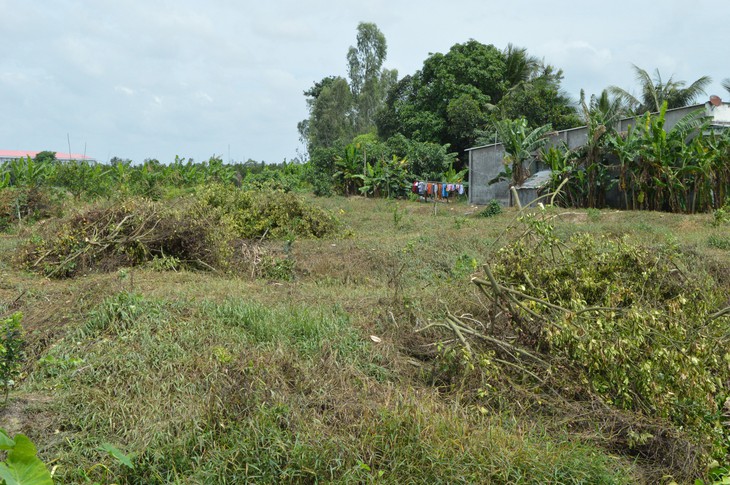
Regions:
[[[315,202],[350,236],[295,240],[291,281],[146,268],[51,281],[15,269],[27,233],[5,236],[0,301],[29,335],[11,431],[61,483],[640,483],[666,471],[508,396],[482,407],[434,385],[435,348],[413,329],[446,307],[477,310],[470,270],[513,211]],[[708,243],[711,216],[563,212],[561,236],[626,234],[730,264]]]

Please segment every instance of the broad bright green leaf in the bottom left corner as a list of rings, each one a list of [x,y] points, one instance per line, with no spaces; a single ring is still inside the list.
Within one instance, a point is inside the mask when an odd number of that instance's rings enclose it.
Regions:
[[[53,478],[46,465],[36,455],[38,450],[24,434],[10,438],[0,428],[0,450],[7,451],[5,461],[0,461],[0,483],[4,485],[53,485]]]

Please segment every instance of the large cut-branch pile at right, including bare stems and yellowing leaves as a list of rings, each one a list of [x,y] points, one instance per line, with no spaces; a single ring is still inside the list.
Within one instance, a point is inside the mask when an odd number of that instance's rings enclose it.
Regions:
[[[730,302],[721,285],[671,244],[562,240],[552,218],[523,213],[519,236],[473,276],[478,319],[447,312],[419,329],[441,329],[443,355],[462,378],[477,371],[477,381],[454,381],[459,389],[486,402],[485,389],[509,387],[521,405],[552,403],[551,413],[593,403],[592,419],[613,423],[616,448],[675,478],[698,476],[709,457],[727,461]]]

